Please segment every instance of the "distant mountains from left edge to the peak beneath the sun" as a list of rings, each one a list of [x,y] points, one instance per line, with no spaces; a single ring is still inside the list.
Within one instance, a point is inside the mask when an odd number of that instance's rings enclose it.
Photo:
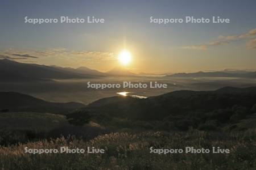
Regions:
[[[0,60],[0,79],[2,81],[34,81],[51,79],[85,79],[101,78],[105,76],[134,76],[127,69],[115,67],[107,73],[79,67],[46,66],[34,63],[20,63],[9,59]]]

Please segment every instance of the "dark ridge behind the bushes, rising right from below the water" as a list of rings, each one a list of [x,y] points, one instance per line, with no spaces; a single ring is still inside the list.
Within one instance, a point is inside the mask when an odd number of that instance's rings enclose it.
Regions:
[[[84,110],[131,120],[162,120],[170,115],[217,112],[236,106],[252,108],[253,105],[256,105],[256,87],[224,87],[215,91],[180,90],[147,99],[108,97],[86,105]]]

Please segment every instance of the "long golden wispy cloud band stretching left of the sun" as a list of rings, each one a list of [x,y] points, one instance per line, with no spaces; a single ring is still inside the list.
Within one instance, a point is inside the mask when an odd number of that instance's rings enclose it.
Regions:
[[[110,52],[97,52],[86,50],[68,50],[65,48],[54,48],[46,50],[0,50],[0,58],[12,59],[23,62],[39,62],[39,63],[98,63],[112,61],[116,58]]]

